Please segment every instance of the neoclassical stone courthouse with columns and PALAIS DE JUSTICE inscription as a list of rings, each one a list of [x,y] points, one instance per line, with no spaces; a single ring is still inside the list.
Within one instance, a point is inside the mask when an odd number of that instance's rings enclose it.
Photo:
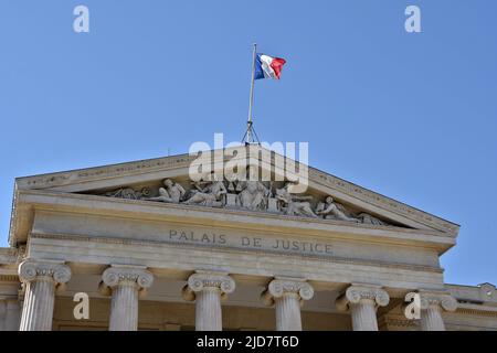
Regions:
[[[304,194],[192,182],[192,160],[17,179],[0,330],[497,330],[493,285],[444,282],[458,225],[313,168]]]

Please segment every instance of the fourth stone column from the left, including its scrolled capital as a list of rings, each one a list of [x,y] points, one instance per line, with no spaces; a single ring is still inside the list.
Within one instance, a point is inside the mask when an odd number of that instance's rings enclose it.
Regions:
[[[276,307],[277,331],[302,331],[300,306],[314,296],[313,287],[300,279],[277,278],[269,282],[262,299]]]

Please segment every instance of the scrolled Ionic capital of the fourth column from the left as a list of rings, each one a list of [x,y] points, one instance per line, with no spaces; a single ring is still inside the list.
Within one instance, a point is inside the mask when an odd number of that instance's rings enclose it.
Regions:
[[[273,279],[267,289],[262,293],[262,300],[266,306],[273,306],[276,298],[284,296],[295,297],[298,300],[309,300],[314,297],[314,288],[302,279]]]

